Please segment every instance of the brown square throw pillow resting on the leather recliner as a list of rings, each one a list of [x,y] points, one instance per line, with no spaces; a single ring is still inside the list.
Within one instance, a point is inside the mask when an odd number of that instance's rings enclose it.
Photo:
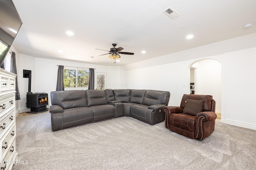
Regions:
[[[196,116],[196,114],[203,111],[203,107],[204,107],[204,100],[187,99],[183,113]]]

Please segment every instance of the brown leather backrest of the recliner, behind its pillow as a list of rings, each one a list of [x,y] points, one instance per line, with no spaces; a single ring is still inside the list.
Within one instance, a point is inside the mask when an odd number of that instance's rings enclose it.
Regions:
[[[215,110],[215,106],[214,106],[214,108],[212,107],[212,96],[211,95],[187,95],[187,94],[184,94],[182,97],[181,103],[180,103],[180,107],[182,109],[184,109],[187,99],[204,101],[203,111],[213,111],[213,109]]]

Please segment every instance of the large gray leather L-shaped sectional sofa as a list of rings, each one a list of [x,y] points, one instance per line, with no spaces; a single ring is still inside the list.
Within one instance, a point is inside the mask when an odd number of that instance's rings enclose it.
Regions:
[[[150,125],[165,120],[170,92],[136,89],[51,92],[52,131],[130,116]]]

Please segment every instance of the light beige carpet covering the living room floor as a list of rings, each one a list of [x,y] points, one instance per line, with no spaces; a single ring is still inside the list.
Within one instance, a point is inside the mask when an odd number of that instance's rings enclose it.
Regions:
[[[52,132],[50,113],[16,119],[13,170],[255,170],[256,131],[216,121],[204,140],[118,117]],[[25,163],[27,162],[27,164]]]

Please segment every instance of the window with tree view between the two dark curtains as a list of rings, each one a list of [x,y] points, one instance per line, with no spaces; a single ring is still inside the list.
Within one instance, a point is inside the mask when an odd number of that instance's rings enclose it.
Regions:
[[[89,70],[64,68],[64,88],[88,89]]]

